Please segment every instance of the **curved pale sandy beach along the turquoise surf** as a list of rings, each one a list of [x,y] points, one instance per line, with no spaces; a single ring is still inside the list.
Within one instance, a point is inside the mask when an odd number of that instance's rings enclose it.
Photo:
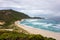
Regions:
[[[17,25],[20,28],[23,28],[24,30],[26,30],[30,34],[41,34],[45,37],[52,37],[52,38],[55,38],[56,40],[60,40],[60,33],[56,33],[56,32],[52,32],[52,31],[47,31],[47,30],[42,30],[42,29],[37,29],[37,28],[26,26],[26,25],[22,25],[22,24],[20,24],[20,21],[16,21],[15,25]]]

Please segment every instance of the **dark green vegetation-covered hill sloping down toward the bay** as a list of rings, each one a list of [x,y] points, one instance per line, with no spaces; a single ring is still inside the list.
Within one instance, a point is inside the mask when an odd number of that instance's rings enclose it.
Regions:
[[[0,10],[0,21],[2,20],[5,22],[3,26],[8,26],[14,23],[16,20],[21,20],[24,18],[29,18],[29,16],[22,12],[17,12],[11,9]]]

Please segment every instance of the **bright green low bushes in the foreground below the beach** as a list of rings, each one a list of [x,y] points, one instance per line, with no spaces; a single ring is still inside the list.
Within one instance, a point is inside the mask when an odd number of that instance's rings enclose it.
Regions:
[[[0,31],[0,40],[55,40],[42,35],[30,35],[15,31]]]

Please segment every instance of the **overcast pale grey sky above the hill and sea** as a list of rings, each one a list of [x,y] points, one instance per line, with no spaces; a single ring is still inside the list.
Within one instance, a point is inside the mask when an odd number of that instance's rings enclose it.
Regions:
[[[0,9],[4,8],[32,17],[60,17],[60,0],[0,0]]]

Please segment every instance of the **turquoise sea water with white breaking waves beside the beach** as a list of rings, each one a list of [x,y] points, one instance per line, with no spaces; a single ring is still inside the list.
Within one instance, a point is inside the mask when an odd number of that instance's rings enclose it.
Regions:
[[[55,20],[44,19],[25,19],[20,24],[27,25],[38,29],[60,32],[60,22]]]

